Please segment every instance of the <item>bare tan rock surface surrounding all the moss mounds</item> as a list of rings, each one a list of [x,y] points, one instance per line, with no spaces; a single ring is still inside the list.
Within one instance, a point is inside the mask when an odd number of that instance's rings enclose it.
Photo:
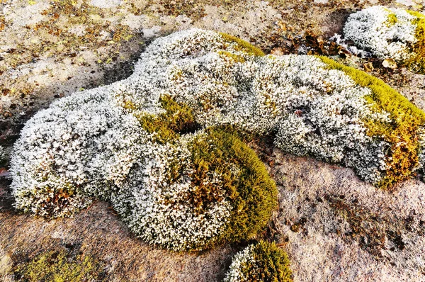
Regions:
[[[0,1],[0,143],[10,152],[20,125],[53,99],[128,77],[152,38],[192,26],[240,36],[265,51],[314,34],[341,33],[348,13],[371,5],[423,9],[421,0]],[[53,5],[55,4],[55,5]],[[344,56],[343,56],[344,57]],[[424,76],[348,56],[425,109]],[[266,147],[268,149],[268,147]],[[272,149],[270,149],[272,150]],[[259,153],[260,150],[259,150]],[[295,281],[424,281],[425,187],[380,191],[350,169],[275,150],[263,159],[280,186],[271,237],[292,261]],[[1,173],[1,168],[0,168]],[[240,246],[176,254],[135,239],[105,203],[46,221],[13,212],[0,176],[0,280],[58,247],[89,253],[109,281],[219,281]]]

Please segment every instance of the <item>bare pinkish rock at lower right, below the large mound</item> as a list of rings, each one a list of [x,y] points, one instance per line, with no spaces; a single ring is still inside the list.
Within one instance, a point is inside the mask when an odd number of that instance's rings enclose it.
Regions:
[[[425,184],[382,191],[351,169],[273,150],[273,218],[295,281],[424,281]]]

